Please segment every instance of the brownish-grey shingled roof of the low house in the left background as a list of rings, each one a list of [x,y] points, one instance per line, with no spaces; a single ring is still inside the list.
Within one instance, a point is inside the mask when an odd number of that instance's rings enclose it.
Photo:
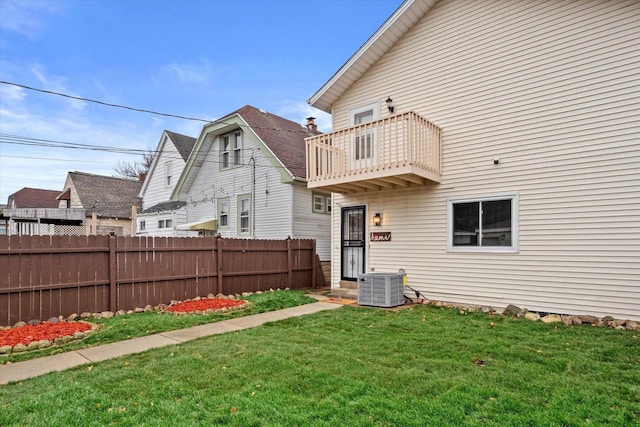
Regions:
[[[139,181],[84,172],[69,172],[69,177],[87,215],[95,209],[101,217],[131,218],[131,207],[141,206]]]

